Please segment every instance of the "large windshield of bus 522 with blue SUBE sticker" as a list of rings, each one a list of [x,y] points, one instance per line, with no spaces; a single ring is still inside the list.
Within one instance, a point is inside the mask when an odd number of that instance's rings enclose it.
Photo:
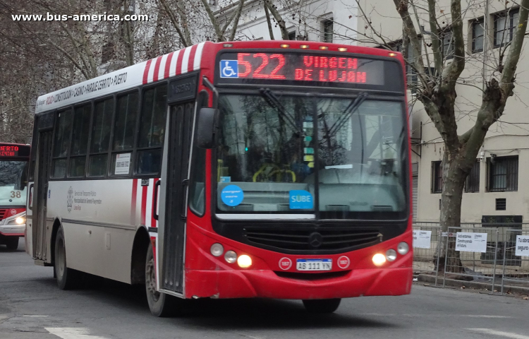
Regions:
[[[403,102],[222,95],[217,213],[406,218]]]

